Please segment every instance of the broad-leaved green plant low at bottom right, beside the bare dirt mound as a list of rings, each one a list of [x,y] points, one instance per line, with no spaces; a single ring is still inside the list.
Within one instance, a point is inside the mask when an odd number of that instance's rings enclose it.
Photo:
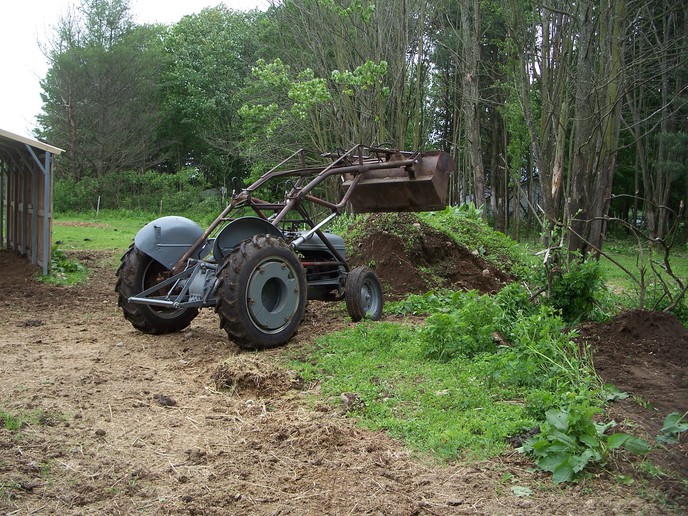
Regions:
[[[562,410],[548,410],[540,433],[519,448],[530,453],[540,469],[552,473],[555,484],[574,480],[590,463],[604,464],[610,450],[624,447],[631,453],[650,450],[644,440],[625,433],[606,435],[615,423],[593,421],[599,407],[586,401],[569,405]]]

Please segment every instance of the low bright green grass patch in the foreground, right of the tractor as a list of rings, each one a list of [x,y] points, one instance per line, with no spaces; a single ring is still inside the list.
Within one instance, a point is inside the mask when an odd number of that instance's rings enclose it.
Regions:
[[[362,323],[300,353],[292,365],[322,382],[335,405],[342,393],[357,394],[363,403],[353,413],[361,424],[442,459],[499,455],[507,437],[535,425],[522,401],[526,391],[492,380],[497,355],[428,360],[415,326]]]

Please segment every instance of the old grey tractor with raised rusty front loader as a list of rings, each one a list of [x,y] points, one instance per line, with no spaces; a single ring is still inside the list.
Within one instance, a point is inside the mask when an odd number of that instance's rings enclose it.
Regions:
[[[446,205],[451,157],[358,145],[318,157],[301,149],[230,203],[204,231],[184,217],[144,226],[117,271],[119,306],[138,330],[186,328],[213,307],[237,345],[267,349],[298,329],[309,299],[344,299],[353,321],[377,320],[384,296],[368,267],[350,269],[343,239],[324,230],[345,209],[354,213],[439,210]],[[330,160],[323,165],[322,160]],[[260,192],[282,187],[280,201]],[[339,202],[322,192],[336,188]],[[313,213],[324,213],[316,222]]]

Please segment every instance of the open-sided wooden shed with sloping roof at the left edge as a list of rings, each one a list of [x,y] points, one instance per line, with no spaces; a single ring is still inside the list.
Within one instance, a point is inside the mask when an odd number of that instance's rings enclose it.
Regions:
[[[62,149],[0,129],[0,247],[50,268],[53,160]]]

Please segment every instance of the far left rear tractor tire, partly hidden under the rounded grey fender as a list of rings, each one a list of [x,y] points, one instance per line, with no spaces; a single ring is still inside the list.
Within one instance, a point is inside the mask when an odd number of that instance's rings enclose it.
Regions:
[[[164,308],[128,301],[130,297],[165,280],[168,275],[169,270],[164,265],[141,252],[135,245],[122,256],[115,286],[117,304],[132,326],[143,333],[174,333],[186,328],[198,315],[197,308]]]

